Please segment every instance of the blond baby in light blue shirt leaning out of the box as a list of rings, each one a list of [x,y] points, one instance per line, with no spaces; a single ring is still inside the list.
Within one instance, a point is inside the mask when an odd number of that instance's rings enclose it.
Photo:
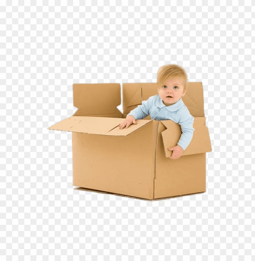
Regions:
[[[171,159],[178,159],[188,147],[193,136],[194,117],[182,101],[187,90],[187,74],[176,64],[167,64],[159,68],[157,74],[158,94],[151,96],[147,101],[132,110],[119,125],[119,129],[131,124],[137,124],[136,119],[143,119],[150,115],[155,120],[172,120],[182,129],[182,135],[173,150]]]

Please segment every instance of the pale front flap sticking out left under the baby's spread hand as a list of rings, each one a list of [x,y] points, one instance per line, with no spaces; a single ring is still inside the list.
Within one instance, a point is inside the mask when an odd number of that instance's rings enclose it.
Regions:
[[[127,136],[151,120],[136,120],[137,124],[132,124],[127,129],[119,129],[118,126],[123,121],[122,118],[72,116],[48,129],[108,136]]]

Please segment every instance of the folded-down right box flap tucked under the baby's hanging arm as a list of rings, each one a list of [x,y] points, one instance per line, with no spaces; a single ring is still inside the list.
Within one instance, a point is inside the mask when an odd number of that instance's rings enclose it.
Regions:
[[[161,132],[161,135],[165,148],[165,156],[168,158],[172,156],[172,151],[168,150],[168,148],[176,146],[181,137],[181,126],[172,120],[160,122],[167,128]],[[189,146],[183,151],[182,156],[212,151],[209,132],[205,122],[205,117],[194,117],[193,128],[195,130],[193,137]]]

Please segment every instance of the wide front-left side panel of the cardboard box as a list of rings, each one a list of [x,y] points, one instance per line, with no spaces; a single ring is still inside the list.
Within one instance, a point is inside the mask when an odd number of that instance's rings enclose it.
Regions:
[[[128,136],[73,133],[73,185],[153,199],[153,122]]]

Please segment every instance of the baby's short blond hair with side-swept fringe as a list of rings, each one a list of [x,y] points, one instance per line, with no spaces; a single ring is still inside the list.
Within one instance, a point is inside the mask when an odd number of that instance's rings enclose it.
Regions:
[[[186,71],[177,64],[165,64],[158,69],[157,73],[157,88],[161,87],[169,78],[182,77],[184,83],[184,90],[187,89],[188,76]]]

